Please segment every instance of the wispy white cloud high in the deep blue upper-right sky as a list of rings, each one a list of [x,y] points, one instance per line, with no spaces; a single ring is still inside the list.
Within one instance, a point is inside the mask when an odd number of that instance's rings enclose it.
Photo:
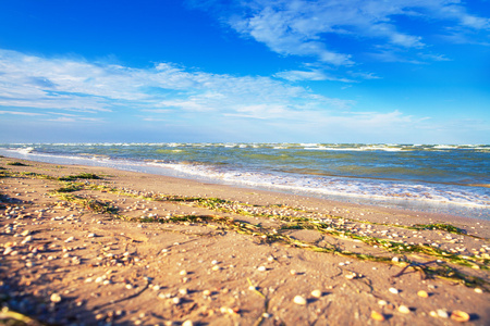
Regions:
[[[359,47],[366,47],[363,39],[370,39],[382,51],[427,48],[427,41],[417,35],[417,29],[407,30],[406,25],[399,23],[400,17],[425,24],[437,22],[441,30],[485,30],[486,37],[490,29],[490,18],[468,13],[465,4],[457,0],[191,2],[213,12],[238,34],[265,43],[279,54],[309,57],[332,65],[352,65],[356,58],[347,50],[335,48],[330,36],[348,38]],[[418,63],[413,59],[396,61]]]

